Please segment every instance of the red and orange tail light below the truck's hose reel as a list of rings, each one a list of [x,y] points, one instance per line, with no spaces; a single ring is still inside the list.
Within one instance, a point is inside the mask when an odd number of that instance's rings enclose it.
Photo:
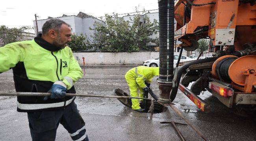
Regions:
[[[223,97],[230,97],[234,94],[234,90],[220,83],[212,81],[209,83],[209,88]]]

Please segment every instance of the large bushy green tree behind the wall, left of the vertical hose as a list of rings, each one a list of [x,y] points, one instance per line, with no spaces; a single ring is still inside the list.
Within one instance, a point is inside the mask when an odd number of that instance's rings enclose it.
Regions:
[[[147,14],[144,18],[135,15],[134,18],[126,21],[115,16],[106,14],[105,24],[95,23],[95,34],[91,38],[97,40],[95,46],[100,45],[101,51],[110,52],[132,52],[139,49],[147,49],[147,43],[158,43],[158,39],[152,35],[158,33],[158,22],[150,22]]]

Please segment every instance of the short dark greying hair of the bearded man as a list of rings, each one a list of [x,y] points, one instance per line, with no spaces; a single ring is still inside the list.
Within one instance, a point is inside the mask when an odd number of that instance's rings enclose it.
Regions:
[[[48,31],[51,29],[54,29],[59,33],[59,28],[61,27],[62,24],[68,25],[70,27],[70,25],[64,22],[63,20],[59,20],[59,19],[48,20],[45,22],[45,24],[42,27],[42,34],[47,34]]]

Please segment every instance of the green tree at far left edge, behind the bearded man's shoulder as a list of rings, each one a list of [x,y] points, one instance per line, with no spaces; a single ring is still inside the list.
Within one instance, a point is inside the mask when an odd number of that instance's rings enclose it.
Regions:
[[[8,28],[5,25],[0,26],[0,47],[7,43],[13,43],[23,40],[23,34],[26,30],[32,27],[23,26],[20,28]]]

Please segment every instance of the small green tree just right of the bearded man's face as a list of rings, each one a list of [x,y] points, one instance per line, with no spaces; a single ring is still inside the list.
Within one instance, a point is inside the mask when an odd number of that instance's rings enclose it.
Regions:
[[[74,52],[87,51],[93,48],[92,45],[89,44],[87,36],[84,36],[83,33],[80,35],[72,34],[71,41],[68,43],[68,46]]]

